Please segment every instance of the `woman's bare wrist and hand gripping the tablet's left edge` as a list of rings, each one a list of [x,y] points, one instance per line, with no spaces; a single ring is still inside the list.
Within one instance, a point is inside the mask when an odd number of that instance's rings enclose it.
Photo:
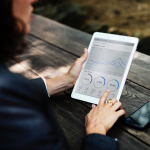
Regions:
[[[75,61],[75,63],[71,66],[65,75],[53,79],[46,79],[48,94],[53,95],[71,89],[74,86],[81,72],[82,65],[87,57],[88,50],[84,49],[84,54]]]

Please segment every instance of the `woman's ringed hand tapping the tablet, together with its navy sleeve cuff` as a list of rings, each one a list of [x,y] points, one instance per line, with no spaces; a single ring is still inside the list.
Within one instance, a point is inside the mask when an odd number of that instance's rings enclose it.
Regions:
[[[125,111],[121,102],[115,98],[112,99],[113,103],[106,104],[109,93],[110,91],[106,91],[99,104],[92,105],[92,110],[85,117],[87,136],[83,140],[81,150],[117,150],[117,141],[105,135]]]

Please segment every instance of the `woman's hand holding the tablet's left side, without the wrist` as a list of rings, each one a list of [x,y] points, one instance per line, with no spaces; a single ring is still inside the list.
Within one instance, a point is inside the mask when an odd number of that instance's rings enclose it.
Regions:
[[[86,61],[87,57],[88,57],[88,50],[85,48],[84,54],[75,61],[75,63],[71,66],[71,68],[67,72],[66,75],[68,76],[68,79],[72,85],[74,85],[76,80],[78,79],[83,63]]]

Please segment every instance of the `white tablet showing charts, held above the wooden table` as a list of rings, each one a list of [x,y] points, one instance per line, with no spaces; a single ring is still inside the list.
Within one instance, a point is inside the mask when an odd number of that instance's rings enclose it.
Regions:
[[[89,56],[72,91],[72,98],[98,104],[107,90],[107,98],[120,99],[138,38],[95,32]]]

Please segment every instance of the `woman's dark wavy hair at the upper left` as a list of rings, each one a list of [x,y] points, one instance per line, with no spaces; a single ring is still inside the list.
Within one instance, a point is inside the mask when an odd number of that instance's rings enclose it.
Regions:
[[[27,49],[24,40],[24,31],[19,31],[16,18],[13,17],[13,0],[0,0],[0,61],[7,62],[15,59],[16,55],[22,54]],[[21,20],[20,23],[25,29]]]

